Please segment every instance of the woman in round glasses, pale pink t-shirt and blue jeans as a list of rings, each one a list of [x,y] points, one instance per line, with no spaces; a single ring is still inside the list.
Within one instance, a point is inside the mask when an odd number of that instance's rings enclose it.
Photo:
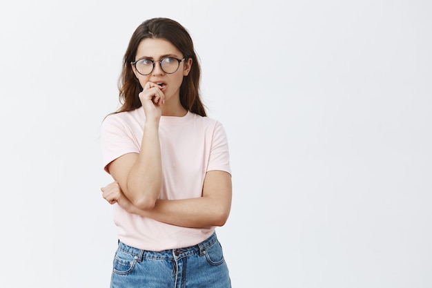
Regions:
[[[230,287],[215,227],[231,206],[228,142],[206,117],[187,30],[166,18],[133,33],[116,113],[101,128],[101,188],[114,205],[119,247],[111,287]]]

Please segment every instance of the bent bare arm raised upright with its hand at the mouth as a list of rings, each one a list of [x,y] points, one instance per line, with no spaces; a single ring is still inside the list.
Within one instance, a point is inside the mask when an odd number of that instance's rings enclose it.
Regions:
[[[148,210],[155,206],[161,189],[159,119],[164,94],[159,86],[148,82],[139,98],[146,113],[140,152],[118,157],[109,164],[108,172],[135,207]]]

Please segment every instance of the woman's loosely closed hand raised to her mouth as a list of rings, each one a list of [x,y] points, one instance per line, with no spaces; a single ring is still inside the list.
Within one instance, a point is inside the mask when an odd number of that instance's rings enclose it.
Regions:
[[[159,121],[162,112],[161,105],[165,104],[165,95],[159,85],[148,81],[139,93],[139,100],[146,113],[146,119],[157,119]]]

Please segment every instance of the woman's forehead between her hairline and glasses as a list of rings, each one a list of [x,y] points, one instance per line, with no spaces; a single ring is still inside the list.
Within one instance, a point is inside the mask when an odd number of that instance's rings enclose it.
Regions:
[[[141,57],[151,57],[158,59],[164,55],[181,57],[181,52],[166,39],[147,38],[139,42],[137,48],[137,59]]]

